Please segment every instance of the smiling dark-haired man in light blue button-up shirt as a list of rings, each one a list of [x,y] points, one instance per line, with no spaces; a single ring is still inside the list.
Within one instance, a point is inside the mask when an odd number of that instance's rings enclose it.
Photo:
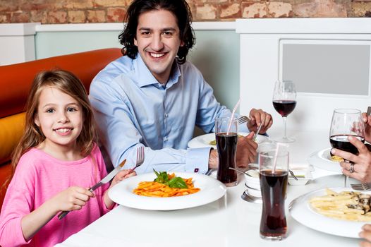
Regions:
[[[191,18],[185,0],[135,0],[128,8],[119,36],[126,56],[100,71],[90,86],[101,142],[115,167],[123,159],[134,165],[136,149],[144,145],[137,174],[217,168],[216,150],[187,149],[195,126],[210,133],[217,117],[231,116],[200,71],[185,61],[194,44]],[[250,117],[240,131],[256,131],[262,123],[265,133],[272,125],[272,116],[262,110],[251,110]],[[251,136],[238,140],[240,167],[255,159]]]

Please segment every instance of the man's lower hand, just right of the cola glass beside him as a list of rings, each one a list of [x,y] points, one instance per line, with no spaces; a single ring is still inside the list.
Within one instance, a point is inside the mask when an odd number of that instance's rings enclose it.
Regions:
[[[253,136],[254,132],[250,132],[245,137],[238,138],[236,152],[237,167],[248,167],[248,164],[255,161],[257,156],[257,143],[253,141]]]

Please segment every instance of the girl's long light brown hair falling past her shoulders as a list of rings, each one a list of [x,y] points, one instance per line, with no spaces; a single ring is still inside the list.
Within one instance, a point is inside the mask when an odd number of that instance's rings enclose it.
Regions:
[[[35,123],[37,108],[39,107],[39,97],[42,90],[46,87],[53,87],[70,95],[78,101],[83,109],[83,129],[77,138],[77,146],[80,148],[81,155],[84,157],[92,152],[97,141],[97,131],[95,121],[90,106],[87,92],[83,83],[73,73],[63,70],[42,71],[35,76],[28,100],[26,103],[25,132],[12,155],[12,174],[16,170],[20,157],[31,147],[36,147],[45,140],[41,129]]]

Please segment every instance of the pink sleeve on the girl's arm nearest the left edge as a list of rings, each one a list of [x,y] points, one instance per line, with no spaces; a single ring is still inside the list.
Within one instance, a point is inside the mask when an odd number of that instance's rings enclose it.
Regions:
[[[6,190],[3,207],[0,215],[0,245],[23,246],[25,241],[21,227],[22,217],[28,215],[33,207],[34,193],[32,185],[35,184],[30,176],[30,169],[18,169]],[[19,169],[20,168],[20,169]]]

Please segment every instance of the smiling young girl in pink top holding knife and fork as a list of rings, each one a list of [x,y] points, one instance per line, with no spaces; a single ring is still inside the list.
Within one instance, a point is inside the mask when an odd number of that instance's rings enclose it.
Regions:
[[[94,193],[107,171],[83,84],[67,71],[39,73],[28,97],[25,133],[13,154],[13,179],[0,215],[0,245],[54,246],[114,207],[108,190]],[[59,220],[61,211],[72,211]]]

